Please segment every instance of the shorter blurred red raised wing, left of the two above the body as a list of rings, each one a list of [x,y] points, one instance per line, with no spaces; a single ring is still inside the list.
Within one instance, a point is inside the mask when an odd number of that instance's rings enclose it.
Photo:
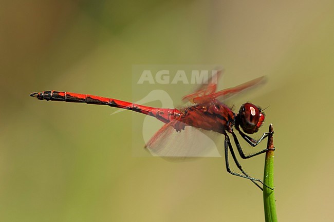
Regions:
[[[218,79],[220,78],[223,71],[224,70],[217,70],[217,72],[213,74],[206,83],[202,83],[194,93],[183,96],[183,102],[189,101],[193,103],[193,99],[196,97],[201,97],[216,92]]]

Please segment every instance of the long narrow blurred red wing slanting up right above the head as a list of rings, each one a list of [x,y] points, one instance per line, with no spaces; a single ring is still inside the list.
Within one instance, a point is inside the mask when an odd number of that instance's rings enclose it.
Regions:
[[[220,101],[222,101],[224,99],[230,98],[231,96],[233,96],[237,93],[243,92],[246,89],[250,89],[252,87],[255,87],[259,84],[263,84],[265,82],[266,82],[266,77],[261,76],[261,77],[255,78],[253,80],[250,80],[247,83],[240,84],[236,87],[224,89],[224,90],[221,90],[221,91],[218,91],[216,93],[209,94],[209,95],[195,97],[195,98],[193,98],[193,102],[194,103],[203,103],[203,102],[205,102],[209,99],[213,99],[213,98],[217,98]]]

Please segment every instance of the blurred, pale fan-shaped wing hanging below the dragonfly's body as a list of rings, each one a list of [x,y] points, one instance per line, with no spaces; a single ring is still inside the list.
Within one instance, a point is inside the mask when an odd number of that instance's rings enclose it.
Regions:
[[[184,125],[177,132],[175,125]],[[215,135],[219,135],[216,133]],[[196,127],[188,126],[174,119],[158,130],[145,148],[154,156],[163,157],[220,157],[216,144],[210,136]]]

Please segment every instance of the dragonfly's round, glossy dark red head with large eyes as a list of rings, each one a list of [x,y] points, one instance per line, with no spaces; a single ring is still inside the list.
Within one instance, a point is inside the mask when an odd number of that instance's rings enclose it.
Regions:
[[[265,114],[261,108],[251,103],[245,103],[239,110],[239,125],[245,133],[256,133],[265,120]]]

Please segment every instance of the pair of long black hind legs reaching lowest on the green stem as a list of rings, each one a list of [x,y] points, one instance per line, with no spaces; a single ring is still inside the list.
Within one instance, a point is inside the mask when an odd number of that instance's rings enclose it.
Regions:
[[[267,185],[265,185],[263,183],[263,181],[261,179],[256,179],[256,178],[253,178],[253,177],[250,177],[242,168],[242,166],[240,165],[240,163],[238,162],[236,156],[235,156],[235,153],[233,151],[233,148],[232,148],[232,144],[230,142],[230,138],[229,136],[225,133],[225,163],[226,163],[226,170],[228,173],[234,175],[234,176],[239,176],[239,177],[243,177],[243,178],[246,178],[246,179],[250,179],[259,189],[263,190],[262,187],[260,187],[258,184],[255,183],[255,181],[258,181],[259,183],[261,183],[263,186],[265,187],[268,187]],[[236,164],[236,166],[238,167],[238,169],[244,174],[239,174],[239,173],[235,173],[235,172],[232,172],[231,168],[230,168],[230,164],[229,164],[229,150],[232,154],[232,157],[233,157],[233,160],[234,160],[234,163]],[[268,187],[269,189],[272,189],[270,187]]]

